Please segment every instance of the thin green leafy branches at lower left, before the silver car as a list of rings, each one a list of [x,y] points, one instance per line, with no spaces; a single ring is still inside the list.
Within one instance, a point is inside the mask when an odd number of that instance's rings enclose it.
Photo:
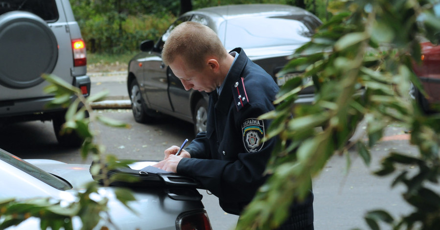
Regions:
[[[104,186],[108,186],[114,180],[134,182],[130,177],[112,176],[108,178],[105,176],[108,170],[126,166],[133,161],[117,160],[113,155],[106,155],[104,158],[105,146],[95,143],[96,135],[89,129],[89,124],[96,121],[112,127],[129,128],[129,125],[125,123],[92,113],[91,103],[104,98],[107,92],[99,92],[85,98],[80,89],[57,76],[43,75],[43,78],[51,83],[46,87],[45,92],[55,95],[55,99],[47,106],[68,107],[66,123],[62,132],[77,132],[80,137],[84,138],[81,147],[82,158],[86,159],[91,154],[93,162],[97,162],[91,167],[92,175],[98,180],[101,179]],[[75,98],[73,102],[72,96]],[[98,182],[93,181],[84,185],[85,189],[74,195],[65,194],[70,197],[70,202],[57,200],[57,198],[0,200],[0,230],[16,226],[30,217],[40,219],[42,230],[48,228],[51,230],[72,230],[74,218],[81,220],[82,230],[94,229],[98,224],[102,230],[108,229],[106,226],[113,225],[107,207],[110,194],[108,192],[101,193],[99,187]],[[135,200],[131,190],[115,188],[113,195],[131,209],[128,203]],[[137,213],[134,211],[133,214]],[[116,228],[116,226],[113,227]]]

